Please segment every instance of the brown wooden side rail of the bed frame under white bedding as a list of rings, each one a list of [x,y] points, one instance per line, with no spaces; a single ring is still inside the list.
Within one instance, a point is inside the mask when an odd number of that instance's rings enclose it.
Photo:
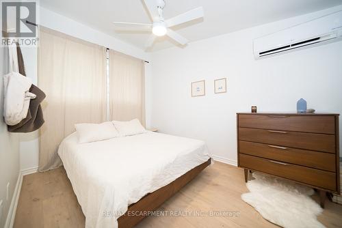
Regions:
[[[194,177],[196,177],[196,175],[198,175],[198,173],[200,173],[208,165],[210,165],[210,158],[201,165],[198,165],[194,169],[188,171],[181,177],[178,177],[170,184],[142,197],[142,199],[137,201],[137,203],[129,205],[127,212],[118,218],[118,227],[129,228],[134,227],[137,225],[137,223],[140,223],[140,221],[146,217],[146,215],[144,215],[146,213],[144,212],[150,212],[157,209],[161,204],[163,204],[163,202],[172,197],[181,188],[183,188],[183,186],[193,180]],[[134,216],[128,216],[128,213],[133,214]]]

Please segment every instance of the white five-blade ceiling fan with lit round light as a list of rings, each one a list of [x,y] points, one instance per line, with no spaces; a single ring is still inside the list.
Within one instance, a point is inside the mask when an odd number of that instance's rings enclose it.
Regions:
[[[165,7],[164,0],[144,0],[144,2],[150,14],[150,18],[152,19],[152,23],[114,22],[114,24],[121,27],[131,27],[130,29],[132,31],[152,31],[153,34],[150,35],[150,38],[148,38],[148,41],[145,44],[146,48],[152,46],[156,35],[168,35],[169,38],[175,40],[181,45],[187,44],[189,40],[170,29],[170,27],[203,17],[203,8],[198,7],[194,10],[189,10],[188,12],[165,20],[163,17],[163,9]]]

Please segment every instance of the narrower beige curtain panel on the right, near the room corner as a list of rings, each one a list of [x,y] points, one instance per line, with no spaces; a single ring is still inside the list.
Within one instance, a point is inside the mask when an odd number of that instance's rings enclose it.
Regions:
[[[139,119],[145,126],[144,61],[109,51],[109,119]]]

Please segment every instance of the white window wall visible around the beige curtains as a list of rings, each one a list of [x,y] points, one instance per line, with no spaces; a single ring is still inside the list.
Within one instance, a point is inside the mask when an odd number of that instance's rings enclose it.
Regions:
[[[94,44],[106,46],[139,59],[144,59],[147,61],[150,59],[149,54],[145,53],[140,48],[122,42],[121,40],[118,40],[100,31],[96,31],[95,29],[76,22],[75,20],[71,20],[70,18],[66,18],[65,16],[61,16],[60,14],[56,14],[55,12],[44,8],[40,8],[39,14],[39,25],[72,35],[76,38],[80,38]],[[26,74],[32,79],[34,84],[37,85],[37,49],[22,48],[22,53],[25,61]],[[148,79],[150,79],[148,74],[148,72],[150,72],[149,67],[150,66],[148,66],[148,63],[146,63],[146,84],[149,84]],[[148,102],[146,102],[146,106],[148,106]],[[21,133],[20,139],[21,170],[38,167],[38,130],[31,133]]]

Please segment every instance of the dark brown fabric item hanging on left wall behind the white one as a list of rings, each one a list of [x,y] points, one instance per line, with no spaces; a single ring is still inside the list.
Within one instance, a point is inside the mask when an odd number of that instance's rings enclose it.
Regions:
[[[19,73],[26,76],[24,59],[23,55],[21,54],[21,48],[18,44],[16,44],[16,54],[18,55]],[[42,124],[44,124],[42,107],[40,106],[40,103],[42,102],[42,100],[44,100],[46,95],[34,84],[31,85],[29,91],[32,94],[36,94],[36,98],[30,100],[29,110],[27,111],[25,119],[14,126],[8,126],[9,132],[33,132],[40,128]]]

